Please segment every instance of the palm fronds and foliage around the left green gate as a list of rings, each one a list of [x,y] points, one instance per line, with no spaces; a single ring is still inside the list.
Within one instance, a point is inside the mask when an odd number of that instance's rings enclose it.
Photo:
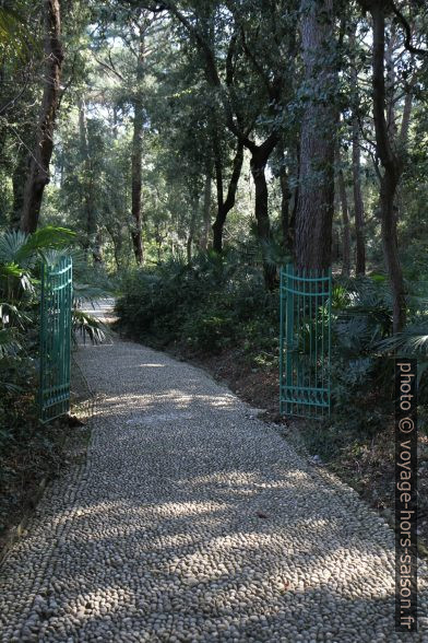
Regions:
[[[51,428],[40,428],[35,394],[38,386],[40,261],[55,264],[63,253],[75,256],[75,277],[88,279],[79,254],[71,250],[74,233],[46,226],[34,235],[0,235],[0,530],[2,513],[15,508],[15,489],[22,486],[23,466],[32,479],[50,470],[58,443]],[[79,302],[106,296],[106,279],[97,287],[76,284],[72,328],[94,343],[105,339],[102,324],[79,309]],[[74,293],[76,295],[76,293]],[[31,457],[28,457],[31,454]],[[20,464],[21,463],[21,464]],[[15,468],[16,467],[16,468]],[[21,467],[21,468],[20,468]],[[29,471],[27,471],[29,469]],[[4,495],[3,495],[4,493]]]

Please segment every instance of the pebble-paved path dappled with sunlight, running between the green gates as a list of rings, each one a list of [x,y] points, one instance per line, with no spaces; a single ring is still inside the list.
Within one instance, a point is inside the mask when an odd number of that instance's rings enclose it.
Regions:
[[[393,535],[202,371],[80,349],[87,463],[46,492],[0,581],[2,642],[428,642],[393,627]]]

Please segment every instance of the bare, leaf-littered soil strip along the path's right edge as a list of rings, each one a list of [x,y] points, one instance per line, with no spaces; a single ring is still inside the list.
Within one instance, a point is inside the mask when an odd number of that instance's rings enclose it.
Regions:
[[[277,367],[254,367],[239,349],[215,356],[195,355],[185,346],[171,354],[206,369],[226,383],[241,399],[263,409],[268,422],[283,428],[283,435],[308,456],[318,456],[323,466],[353,487],[364,500],[394,527],[394,426],[387,423],[376,435],[362,432],[335,434],[317,422],[290,420],[278,412]],[[418,547],[428,557],[428,435],[419,434],[418,445]]]

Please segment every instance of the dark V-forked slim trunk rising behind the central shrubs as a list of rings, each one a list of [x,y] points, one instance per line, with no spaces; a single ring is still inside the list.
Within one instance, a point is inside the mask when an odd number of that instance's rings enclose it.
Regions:
[[[214,165],[215,165],[215,185],[217,190],[217,214],[213,224],[213,249],[222,254],[223,252],[223,229],[227,214],[235,206],[236,192],[243,163],[243,145],[238,142],[237,151],[233,161],[231,176],[227,188],[227,196],[224,200],[223,191],[223,161],[218,141],[214,137]]]

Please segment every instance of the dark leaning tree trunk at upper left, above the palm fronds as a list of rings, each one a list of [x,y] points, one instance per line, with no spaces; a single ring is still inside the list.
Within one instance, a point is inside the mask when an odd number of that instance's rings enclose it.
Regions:
[[[61,19],[59,0],[44,0],[45,19],[45,86],[36,144],[29,160],[21,213],[21,230],[35,232],[40,214],[45,186],[49,183],[49,163],[54,149],[55,119],[59,105],[61,66]]]

